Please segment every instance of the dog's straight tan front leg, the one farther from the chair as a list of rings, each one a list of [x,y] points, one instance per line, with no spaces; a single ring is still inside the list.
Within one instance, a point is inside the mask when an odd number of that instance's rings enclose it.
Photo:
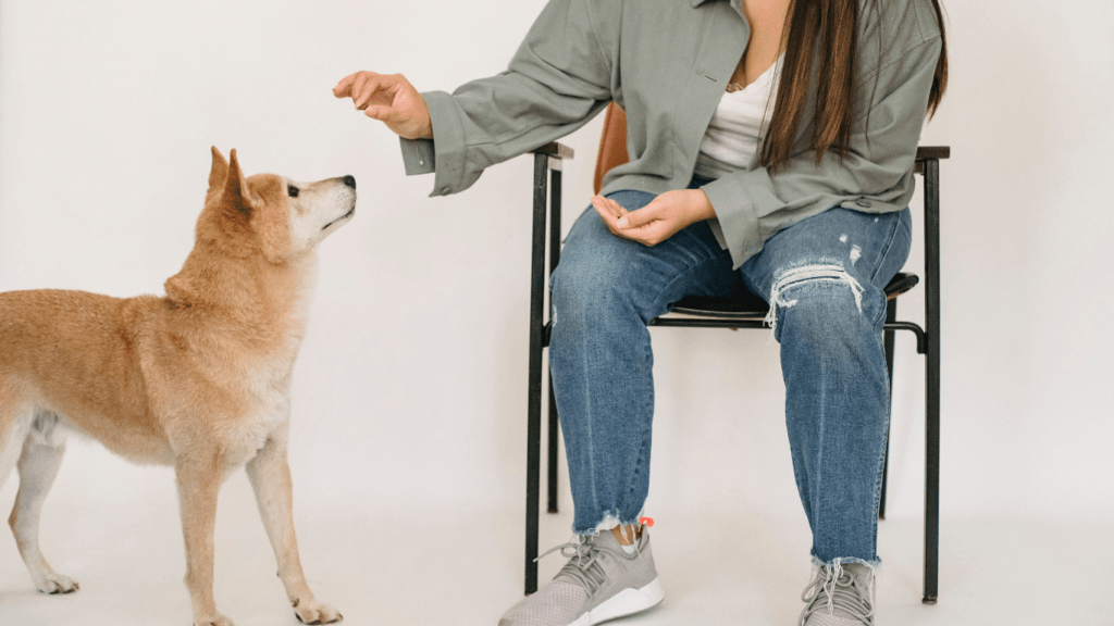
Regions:
[[[222,470],[216,454],[179,458],[175,462],[182,531],[186,538],[186,588],[194,608],[194,626],[233,626],[216,610],[213,597],[213,531]]]

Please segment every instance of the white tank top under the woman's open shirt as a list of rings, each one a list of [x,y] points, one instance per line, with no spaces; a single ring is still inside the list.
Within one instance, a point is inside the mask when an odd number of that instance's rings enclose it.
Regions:
[[[719,178],[752,168],[759,139],[773,115],[771,95],[780,76],[781,58],[743,89],[723,92],[701,140],[694,174]]]

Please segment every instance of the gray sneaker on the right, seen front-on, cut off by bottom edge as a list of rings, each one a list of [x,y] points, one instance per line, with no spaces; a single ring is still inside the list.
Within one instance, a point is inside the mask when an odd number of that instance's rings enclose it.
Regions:
[[[801,599],[798,626],[873,626],[874,570],[861,563],[814,566]]]

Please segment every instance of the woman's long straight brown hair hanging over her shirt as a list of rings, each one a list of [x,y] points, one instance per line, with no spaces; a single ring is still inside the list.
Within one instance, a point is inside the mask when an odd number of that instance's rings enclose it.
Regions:
[[[863,11],[878,11],[886,0],[792,0],[784,35],[785,61],[774,100],[773,117],[762,145],[761,163],[774,170],[793,155],[798,129],[804,117],[809,89],[815,84],[817,107],[812,116],[810,147],[817,163],[831,150],[848,155],[854,121],[856,80],[859,69],[859,28]],[[940,58],[928,98],[929,116],[936,115],[948,85],[947,38],[940,0],[932,0],[940,25]],[[881,42],[879,42],[881,46]],[[822,50],[823,53],[817,53]],[[819,67],[813,68],[813,60]],[[869,124],[869,111],[868,111]]]

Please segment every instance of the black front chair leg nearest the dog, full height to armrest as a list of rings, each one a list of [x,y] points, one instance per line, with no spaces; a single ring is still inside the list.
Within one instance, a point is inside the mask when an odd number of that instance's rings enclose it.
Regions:
[[[548,157],[534,157],[534,236],[530,258],[530,363],[526,423],[526,594],[538,589],[538,507],[541,482],[541,351],[545,304],[546,174]]]

